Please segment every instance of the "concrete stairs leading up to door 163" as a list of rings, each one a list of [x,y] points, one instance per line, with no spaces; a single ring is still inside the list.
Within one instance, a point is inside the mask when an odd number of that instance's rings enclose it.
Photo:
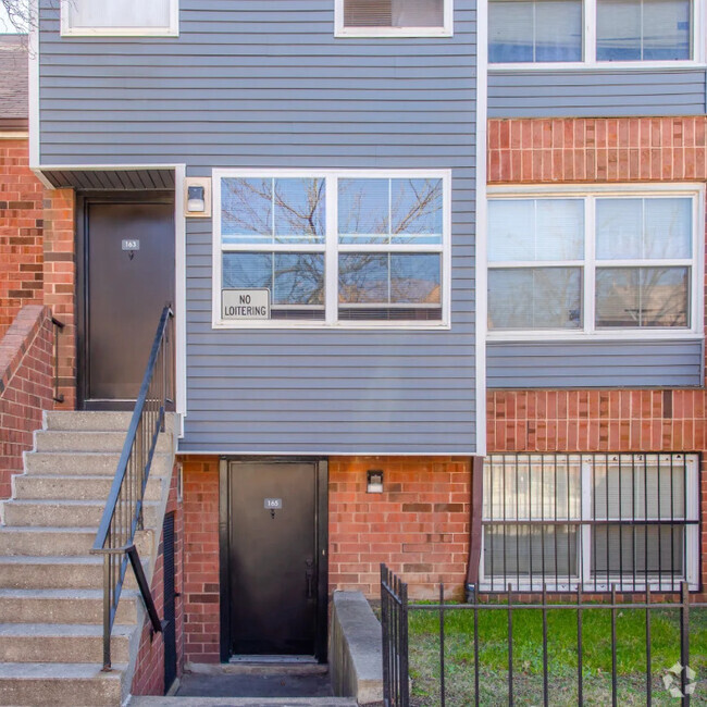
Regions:
[[[102,558],[90,555],[131,414],[47,412],[25,473],[0,503],[0,705],[120,706],[145,610],[128,566],[102,672]],[[136,537],[148,581],[174,461],[161,434]]]

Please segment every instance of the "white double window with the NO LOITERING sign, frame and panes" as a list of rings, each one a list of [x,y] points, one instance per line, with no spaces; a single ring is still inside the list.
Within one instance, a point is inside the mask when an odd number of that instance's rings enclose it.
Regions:
[[[448,326],[448,172],[213,179],[215,327]],[[269,317],[224,317],[228,290],[266,290]]]

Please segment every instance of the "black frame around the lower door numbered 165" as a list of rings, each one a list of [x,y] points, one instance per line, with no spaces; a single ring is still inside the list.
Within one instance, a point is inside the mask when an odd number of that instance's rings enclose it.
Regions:
[[[328,621],[328,460],[321,457],[221,457],[219,462],[219,574],[221,605],[221,662],[231,658],[231,484],[232,463],[311,463],[314,466],[314,543],[317,557],[317,630],[314,657],[326,662]]]

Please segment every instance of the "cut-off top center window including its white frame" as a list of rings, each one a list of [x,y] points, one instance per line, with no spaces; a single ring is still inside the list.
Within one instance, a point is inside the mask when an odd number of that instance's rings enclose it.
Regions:
[[[452,0],[336,0],[340,37],[451,35]]]

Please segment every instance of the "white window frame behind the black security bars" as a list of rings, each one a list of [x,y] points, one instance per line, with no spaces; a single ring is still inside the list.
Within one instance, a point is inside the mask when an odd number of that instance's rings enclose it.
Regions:
[[[503,452],[499,452],[499,455]],[[547,456],[546,452],[536,452],[538,456]],[[660,452],[646,452],[648,455],[658,455],[662,461],[670,461],[670,454],[667,454],[663,458],[663,455]],[[686,479],[685,479],[685,499],[687,501],[685,508],[685,520],[694,521],[699,520],[699,457],[696,454],[689,452],[673,452],[673,454],[684,454],[685,455],[685,467],[686,467]],[[635,456],[641,457],[642,452],[636,452]],[[533,456],[530,455],[529,456]],[[562,455],[566,456],[566,455]],[[609,457],[620,457],[621,452],[608,452]],[[582,512],[581,518],[591,519],[592,518],[592,494],[594,492],[592,485],[592,468],[593,468],[594,457],[592,455],[582,455],[582,471],[581,471],[581,484],[582,484]],[[483,504],[482,504],[482,513],[483,513]],[[483,517],[484,520],[486,517]],[[567,516],[558,516],[558,520],[566,520]],[[500,519],[496,519],[500,520]],[[549,519],[554,520],[554,519]],[[604,520],[604,519],[600,519]],[[619,519],[609,519],[609,521],[616,520],[619,522]],[[576,558],[578,558],[578,570],[579,575],[569,578],[569,583],[567,581],[567,575],[565,575],[565,581],[558,581],[557,585],[550,584],[550,582],[545,580],[547,583],[548,590],[553,592],[571,592],[575,591],[580,583],[582,584],[582,590],[585,592],[610,592],[611,584],[616,584],[617,587],[621,584],[621,579],[618,575],[609,575],[609,581],[607,583],[606,575],[603,575],[601,581],[594,581],[592,575],[592,526],[588,523],[583,523],[581,519],[570,517],[570,523],[580,523],[578,531],[578,547],[576,547]],[[543,524],[543,520],[537,521],[537,525]],[[628,521],[623,521],[628,523]],[[700,525],[699,523],[690,523],[684,526],[685,532],[685,550],[686,550],[686,561],[685,561],[685,576],[691,591],[699,590],[699,535],[700,535]],[[482,525],[482,535],[481,535],[481,557],[479,562],[479,587],[483,591],[489,591],[494,587],[494,591],[501,590],[506,591],[507,587],[501,587],[503,578],[499,580],[498,576],[492,582],[492,576],[486,575],[484,569],[484,543],[486,542],[485,536],[485,526]],[[542,574],[536,575],[539,579],[526,579],[521,580],[520,584],[510,580],[513,585],[513,591],[520,592],[537,592],[542,591]],[[642,580],[642,581],[638,581]],[[644,578],[636,575],[636,583],[633,587],[623,592],[643,592],[645,591],[645,581]],[[650,588],[655,591],[663,592],[673,592],[680,588],[680,581],[677,581],[674,584],[669,580],[662,580],[660,586],[658,581],[648,582]],[[627,580],[624,580],[624,585]]]

